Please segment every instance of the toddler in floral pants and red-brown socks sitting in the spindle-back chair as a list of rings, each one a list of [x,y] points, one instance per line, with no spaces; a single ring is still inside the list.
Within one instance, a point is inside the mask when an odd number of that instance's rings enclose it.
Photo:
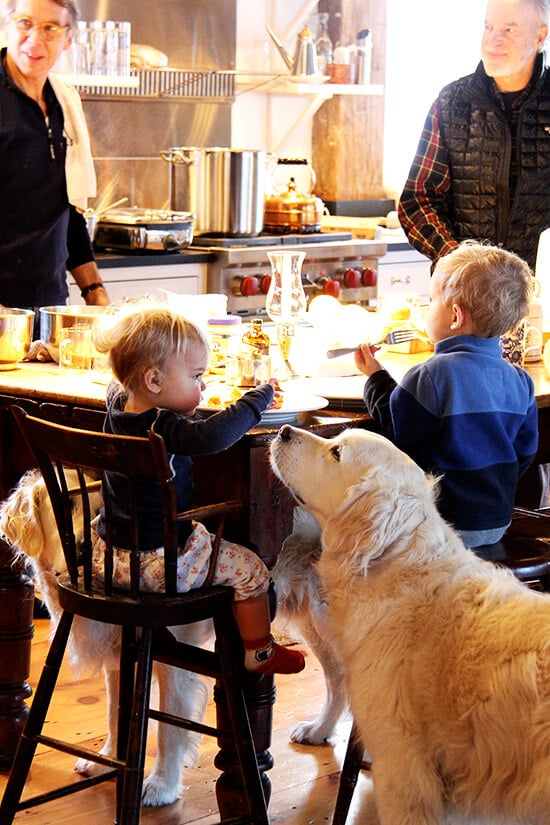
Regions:
[[[122,317],[95,336],[100,352],[108,352],[118,383],[107,392],[107,432],[146,437],[148,430],[162,436],[170,454],[178,512],[192,506],[193,455],[225,450],[257,424],[273,402],[275,381],[245,393],[239,401],[206,419],[195,419],[205,389],[203,375],[210,347],[203,332],[191,321],[165,308],[145,307]],[[114,493],[111,530],[115,554],[115,582],[129,581],[129,504],[124,480],[108,474],[104,481]],[[144,589],[158,590],[162,575],[162,513],[154,483],[143,484],[139,514],[140,550]],[[179,537],[178,590],[200,587],[208,573],[211,536],[194,523],[183,525]],[[94,561],[102,575],[105,523],[100,513],[96,524]],[[298,673],[305,665],[300,650],[276,644],[270,633],[267,599],[269,571],[246,547],[222,539],[214,584],[235,590],[234,613],[245,648],[245,668],[260,673]]]

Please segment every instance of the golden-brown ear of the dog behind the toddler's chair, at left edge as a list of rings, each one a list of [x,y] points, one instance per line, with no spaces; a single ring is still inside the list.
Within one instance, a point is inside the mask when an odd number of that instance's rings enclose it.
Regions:
[[[40,513],[49,497],[37,470],[21,478],[0,508],[0,533],[5,540],[25,555],[37,558],[44,548]]]

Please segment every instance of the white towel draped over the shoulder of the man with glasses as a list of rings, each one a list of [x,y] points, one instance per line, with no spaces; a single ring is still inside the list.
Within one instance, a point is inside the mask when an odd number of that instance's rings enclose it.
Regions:
[[[88,198],[96,196],[96,176],[90,134],[82,108],[80,95],[74,86],[65,83],[57,75],[49,75],[55,96],[63,110],[65,119],[65,136],[67,138],[67,157],[65,175],[69,203],[80,212],[88,206]]]

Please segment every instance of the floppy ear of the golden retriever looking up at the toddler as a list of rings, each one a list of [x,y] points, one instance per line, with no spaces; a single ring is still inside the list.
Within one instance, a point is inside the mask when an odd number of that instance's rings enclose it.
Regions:
[[[429,499],[431,490],[426,485]],[[373,472],[348,490],[341,506],[327,520],[323,531],[324,553],[336,554],[348,570],[365,575],[381,557],[396,555],[411,541],[424,520],[424,502],[418,492],[404,485],[388,489],[387,478]],[[345,562],[344,562],[345,559]]]

